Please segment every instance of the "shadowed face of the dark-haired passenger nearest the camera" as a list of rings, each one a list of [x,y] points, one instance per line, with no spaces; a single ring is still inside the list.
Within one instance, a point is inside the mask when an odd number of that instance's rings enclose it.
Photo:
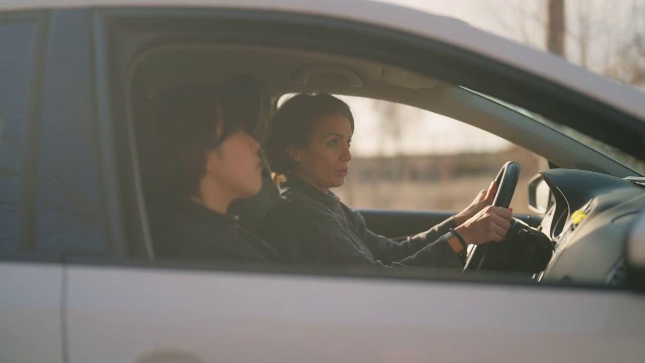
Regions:
[[[262,188],[259,143],[240,130],[206,158],[206,176],[228,199],[248,198]]]

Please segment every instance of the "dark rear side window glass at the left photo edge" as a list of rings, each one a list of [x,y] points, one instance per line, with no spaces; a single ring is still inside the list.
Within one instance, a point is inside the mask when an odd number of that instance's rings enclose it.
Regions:
[[[19,194],[34,23],[0,21],[0,251],[19,240]]]

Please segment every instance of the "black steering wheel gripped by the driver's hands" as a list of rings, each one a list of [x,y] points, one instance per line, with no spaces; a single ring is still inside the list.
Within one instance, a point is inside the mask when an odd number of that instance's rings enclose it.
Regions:
[[[495,199],[493,199],[493,205],[495,207],[508,208],[511,204],[511,199],[513,198],[513,193],[515,193],[515,187],[517,187],[517,180],[520,177],[520,165],[516,161],[507,161],[500,169],[495,178],[495,184],[497,185],[497,192],[495,193]],[[511,225],[514,220],[511,220]],[[464,265],[464,271],[469,269],[486,269],[484,266],[484,260],[486,260],[486,255],[495,253],[495,244],[490,242],[482,245],[473,245],[466,265]]]

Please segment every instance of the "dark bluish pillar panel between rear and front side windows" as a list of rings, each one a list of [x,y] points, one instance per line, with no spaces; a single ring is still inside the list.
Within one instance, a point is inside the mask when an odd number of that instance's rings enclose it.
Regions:
[[[41,251],[105,250],[88,28],[82,10],[52,17],[50,43],[57,46],[47,56],[37,174]]]

